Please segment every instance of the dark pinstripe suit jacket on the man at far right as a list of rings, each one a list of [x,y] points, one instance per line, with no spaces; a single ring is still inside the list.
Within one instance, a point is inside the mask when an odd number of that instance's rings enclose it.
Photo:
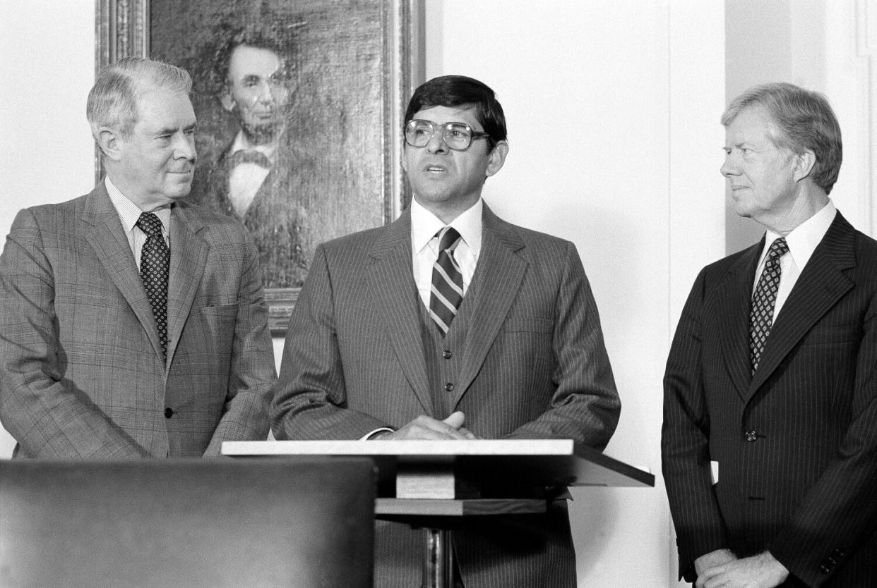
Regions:
[[[667,360],[662,455],[680,570],[714,549],[770,549],[792,573],[785,586],[875,586],[877,243],[838,213],[750,376],[763,245],[703,269]]]

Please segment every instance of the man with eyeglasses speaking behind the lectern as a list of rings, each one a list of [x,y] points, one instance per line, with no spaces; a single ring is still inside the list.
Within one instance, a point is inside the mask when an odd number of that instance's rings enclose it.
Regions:
[[[275,385],[275,436],[572,438],[602,450],[620,403],[574,244],[481,200],[509,152],[493,90],[435,78],[405,121],[413,202],[394,223],[317,248]],[[544,490],[546,514],[454,531],[457,586],[575,586],[566,492]],[[417,585],[423,541],[377,523],[374,584]]]

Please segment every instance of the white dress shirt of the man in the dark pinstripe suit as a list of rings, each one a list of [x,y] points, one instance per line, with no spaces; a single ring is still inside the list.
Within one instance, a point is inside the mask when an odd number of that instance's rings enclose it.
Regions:
[[[776,293],[776,302],[774,303],[774,321],[780,314],[782,305],[786,302],[788,294],[795,287],[795,282],[801,276],[804,266],[816,250],[816,245],[825,237],[834,216],[838,213],[838,209],[834,207],[834,202],[828,201],[822,210],[815,215],[810,216],[806,221],[799,224],[786,235],[786,244],[788,245],[788,253],[780,258],[780,289]],[[765,248],[761,251],[759,266],[755,271],[755,281],[752,284],[752,294],[755,294],[755,287],[758,286],[761,273],[764,271],[767,261],[767,251],[771,244],[782,235],[774,233],[773,230],[767,230],[765,237]]]

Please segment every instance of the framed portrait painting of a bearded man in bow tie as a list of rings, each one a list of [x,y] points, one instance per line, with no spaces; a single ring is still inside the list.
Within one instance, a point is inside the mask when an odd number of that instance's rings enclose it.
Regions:
[[[393,220],[403,101],[422,81],[415,0],[100,0],[98,67],[192,75],[189,202],[243,223],[281,333],[317,244]]]

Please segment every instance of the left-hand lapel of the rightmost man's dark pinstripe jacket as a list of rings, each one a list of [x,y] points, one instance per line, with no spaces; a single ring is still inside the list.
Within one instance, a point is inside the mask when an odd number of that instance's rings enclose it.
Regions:
[[[745,399],[752,379],[749,352],[749,312],[752,307],[752,281],[764,247],[762,238],[729,268],[725,283],[717,288],[715,312],[718,337],[725,366],[741,399]]]

